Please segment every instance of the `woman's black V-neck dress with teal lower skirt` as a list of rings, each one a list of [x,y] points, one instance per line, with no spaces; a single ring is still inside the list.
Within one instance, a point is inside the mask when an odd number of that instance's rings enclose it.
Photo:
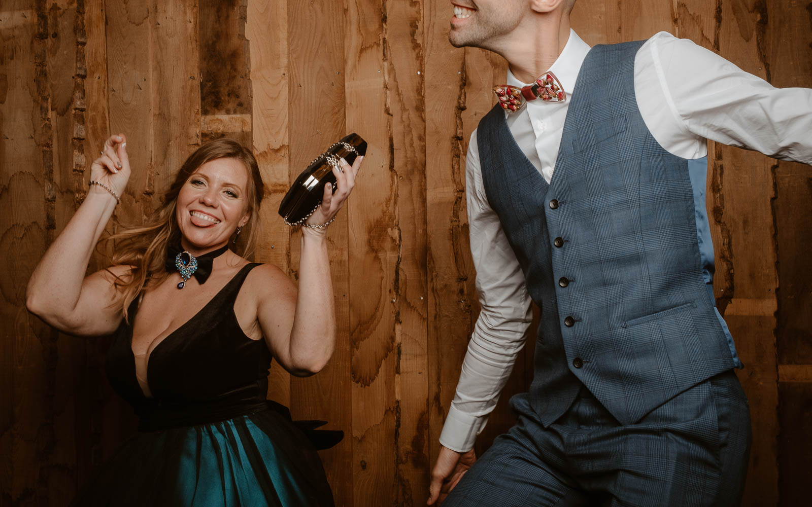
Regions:
[[[136,380],[132,326],[107,353],[110,383],[140,417],[74,505],[333,505],[322,462],[287,409],[266,402],[271,354],[245,336],[234,302],[248,264],[149,355]],[[134,321],[137,305],[130,307]]]

